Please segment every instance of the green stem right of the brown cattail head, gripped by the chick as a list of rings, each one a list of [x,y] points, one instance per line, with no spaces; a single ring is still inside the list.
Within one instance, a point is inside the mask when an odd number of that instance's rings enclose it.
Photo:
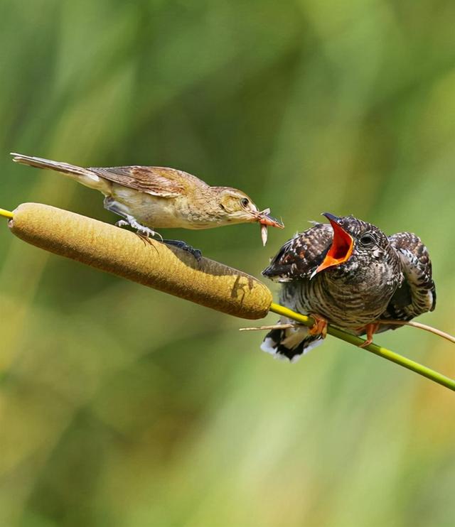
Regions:
[[[311,327],[312,325],[314,325],[313,318],[307,317],[306,315],[300,315],[299,313],[295,313],[295,311],[292,311],[288,308],[284,308],[284,306],[279,304],[272,303],[272,305],[270,305],[270,311],[272,311],[273,313],[277,313],[278,315],[283,315],[284,317],[290,318],[291,320],[296,320],[297,322],[300,322],[305,326]],[[353,344],[357,347],[365,342],[364,339],[360,337],[355,337],[355,335],[350,335],[350,333],[343,330],[339,330],[338,327],[333,327],[331,325],[328,325],[327,332],[328,335],[332,335],[337,339],[349,342],[350,344]],[[427,366],[423,366],[418,362],[414,362],[411,359],[407,359],[406,357],[403,357],[400,354],[392,352],[390,349],[378,346],[377,344],[369,344],[368,346],[365,346],[362,349],[366,349],[368,352],[374,353],[375,355],[379,355],[379,357],[382,357],[383,359],[387,359],[388,361],[395,362],[395,364],[399,364],[404,368],[410,369],[411,371],[415,371],[415,373],[427,377],[427,379],[430,379],[430,381],[434,381],[437,384],[441,384],[441,386],[445,386],[446,388],[455,391],[454,379],[450,379],[450,377],[446,377],[445,375],[440,374],[438,371],[429,369],[427,368]]]

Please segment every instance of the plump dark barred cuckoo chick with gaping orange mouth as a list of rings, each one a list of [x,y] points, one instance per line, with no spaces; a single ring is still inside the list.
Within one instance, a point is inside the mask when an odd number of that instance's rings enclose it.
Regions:
[[[378,227],[353,216],[324,212],[330,224],[296,234],[263,271],[282,282],[280,301],[313,316],[312,328],[272,330],[262,343],[266,352],[299,358],[321,344],[331,323],[355,335],[395,329],[378,320],[411,320],[432,311],[436,290],[427,248],[415,234],[387,237]],[[292,322],[282,317],[279,324]]]

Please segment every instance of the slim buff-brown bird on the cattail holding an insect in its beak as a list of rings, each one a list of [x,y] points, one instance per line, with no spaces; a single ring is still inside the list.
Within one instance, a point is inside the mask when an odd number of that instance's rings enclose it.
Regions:
[[[154,229],[211,229],[259,222],[265,244],[268,226],[284,227],[269,215],[268,209],[260,211],[245,192],[230,187],[210,187],[182,170],[136,165],[82,168],[20,153],[11,155],[16,163],[50,168],[69,175],[86,187],[99,190],[105,195],[105,208],[124,218],[117,225],[130,225],[146,237],[158,234]],[[184,241],[164,241],[200,258],[200,251]]]

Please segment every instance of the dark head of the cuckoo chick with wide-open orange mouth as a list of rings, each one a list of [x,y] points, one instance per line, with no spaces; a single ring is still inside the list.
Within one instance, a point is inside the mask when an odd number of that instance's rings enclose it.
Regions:
[[[388,238],[378,227],[353,216],[337,217],[330,212],[323,212],[323,216],[331,223],[333,239],[312,276],[326,269],[347,274],[359,266],[387,263],[392,251]]]

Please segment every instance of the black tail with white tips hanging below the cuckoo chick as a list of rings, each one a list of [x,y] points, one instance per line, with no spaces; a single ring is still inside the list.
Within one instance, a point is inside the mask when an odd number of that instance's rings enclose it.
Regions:
[[[289,320],[280,320],[279,324],[286,324]],[[309,328],[303,325],[274,329],[267,333],[261,344],[264,352],[274,355],[277,359],[288,359],[296,362],[300,357],[322,344],[321,335],[310,335]]]

